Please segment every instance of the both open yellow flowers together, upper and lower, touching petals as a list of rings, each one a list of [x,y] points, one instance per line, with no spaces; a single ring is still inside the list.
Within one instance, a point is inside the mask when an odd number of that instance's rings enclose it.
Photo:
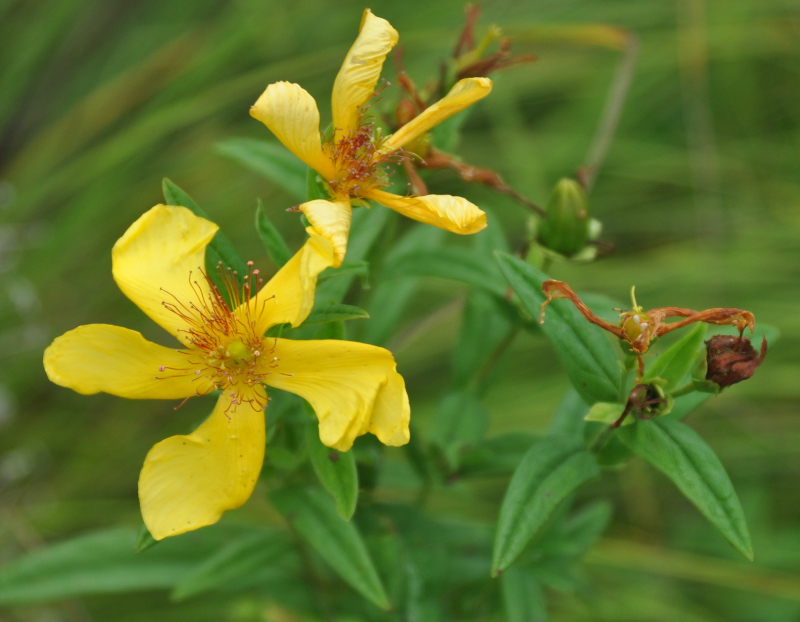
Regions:
[[[303,247],[269,281],[219,266],[222,291],[205,272],[217,232],[186,207],[156,205],[117,241],[113,275],[122,292],[178,341],[164,347],[140,333],[90,324],[58,337],[44,353],[48,377],[79,393],[186,401],[214,394],[216,405],[194,432],[156,444],[139,477],[145,525],[156,540],[210,525],[250,497],[261,472],[268,387],[301,396],[319,420],[320,440],[348,451],[370,432],[386,445],[409,440],[403,378],[383,348],[339,340],[267,336],[300,326],[314,304],[318,275],[341,265],[351,204],[377,201],[415,220],[475,233],[486,216],[452,196],[398,196],[385,190],[386,167],[405,145],[491,90],[486,78],[458,82],[438,103],[383,138],[368,102],[397,32],[365,11],[361,30],[333,87],[334,128],[323,141],[311,96],[296,84],[270,85],[251,109],[321,175],[330,201],[300,206],[311,226]]]

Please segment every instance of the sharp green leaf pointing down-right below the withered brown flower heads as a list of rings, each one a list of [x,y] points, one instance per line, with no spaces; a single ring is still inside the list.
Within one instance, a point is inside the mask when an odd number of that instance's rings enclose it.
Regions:
[[[742,506],[725,468],[690,427],[669,418],[640,421],[617,431],[636,454],[664,473],[747,559],[753,547]]]

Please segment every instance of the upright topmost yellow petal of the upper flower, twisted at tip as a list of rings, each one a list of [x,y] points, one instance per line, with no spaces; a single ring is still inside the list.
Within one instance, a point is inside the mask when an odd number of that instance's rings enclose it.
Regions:
[[[398,38],[389,22],[364,10],[358,37],[333,83],[333,126],[337,137],[356,129],[359,107],[375,94],[383,61]]]

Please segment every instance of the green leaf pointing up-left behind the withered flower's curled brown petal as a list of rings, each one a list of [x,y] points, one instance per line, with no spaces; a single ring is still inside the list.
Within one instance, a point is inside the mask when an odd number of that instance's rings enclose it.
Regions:
[[[545,300],[542,283],[550,277],[517,257],[504,253],[495,253],[495,256],[522,304],[538,318]],[[547,307],[541,329],[553,344],[573,386],[587,403],[617,400],[620,356],[599,327],[590,324],[571,302],[554,300]]]

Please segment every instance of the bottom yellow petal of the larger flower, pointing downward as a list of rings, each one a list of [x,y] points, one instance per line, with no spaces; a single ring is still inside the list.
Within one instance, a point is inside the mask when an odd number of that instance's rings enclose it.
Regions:
[[[265,392],[259,387],[261,399]],[[139,475],[142,518],[156,540],[216,523],[250,498],[264,462],[264,412],[222,395],[187,436],[155,445]]]

